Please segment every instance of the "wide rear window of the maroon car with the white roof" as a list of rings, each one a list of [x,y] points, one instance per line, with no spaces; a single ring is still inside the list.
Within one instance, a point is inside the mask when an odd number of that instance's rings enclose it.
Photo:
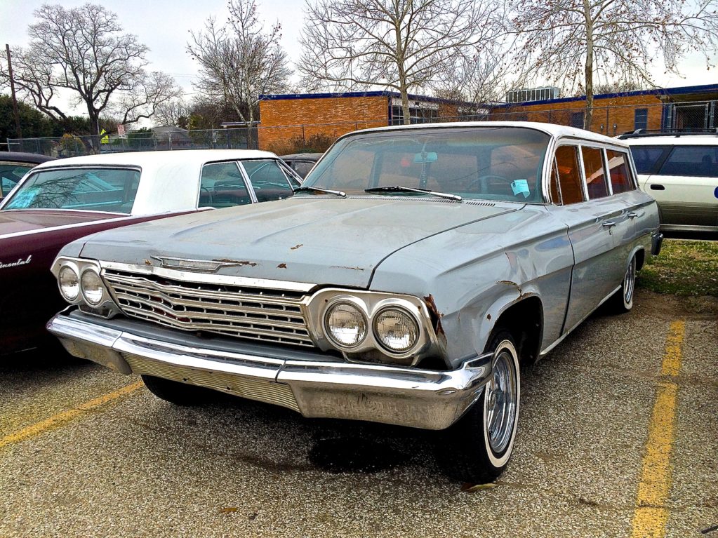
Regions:
[[[3,209],[85,209],[130,213],[139,170],[64,169],[32,174]]]

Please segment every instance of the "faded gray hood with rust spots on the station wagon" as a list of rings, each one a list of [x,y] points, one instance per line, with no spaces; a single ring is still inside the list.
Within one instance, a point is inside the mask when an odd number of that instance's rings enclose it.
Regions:
[[[300,196],[108,230],[86,238],[81,255],[136,265],[161,265],[159,258],[213,260],[232,264],[218,274],[364,288],[376,266],[396,250],[521,207]],[[78,246],[66,253],[76,254]]]

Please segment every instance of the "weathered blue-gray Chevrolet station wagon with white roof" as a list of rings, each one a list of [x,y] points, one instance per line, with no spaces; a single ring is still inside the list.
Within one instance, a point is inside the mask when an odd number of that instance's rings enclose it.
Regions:
[[[623,141],[542,123],[342,136],[294,197],[108,230],[52,266],[67,351],[178,405],[208,389],[437,433],[445,472],[505,468],[521,367],[661,247]]]

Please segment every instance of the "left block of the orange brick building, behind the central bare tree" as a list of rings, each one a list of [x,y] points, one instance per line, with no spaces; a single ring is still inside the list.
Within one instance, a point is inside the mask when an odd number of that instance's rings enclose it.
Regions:
[[[474,103],[409,95],[411,123],[467,117],[475,108]],[[313,137],[333,141],[356,129],[403,123],[401,95],[387,91],[261,95],[259,112],[259,147],[278,154],[292,153]]]

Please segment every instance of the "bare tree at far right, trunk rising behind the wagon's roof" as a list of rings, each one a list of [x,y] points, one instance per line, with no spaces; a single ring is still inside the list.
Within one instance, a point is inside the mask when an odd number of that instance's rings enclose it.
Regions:
[[[523,62],[536,75],[584,90],[584,128],[593,116],[594,84],[653,86],[654,58],[679,73],[687,52],[706,57],[718,42],[715,0],[509,0],[523,39]]]

